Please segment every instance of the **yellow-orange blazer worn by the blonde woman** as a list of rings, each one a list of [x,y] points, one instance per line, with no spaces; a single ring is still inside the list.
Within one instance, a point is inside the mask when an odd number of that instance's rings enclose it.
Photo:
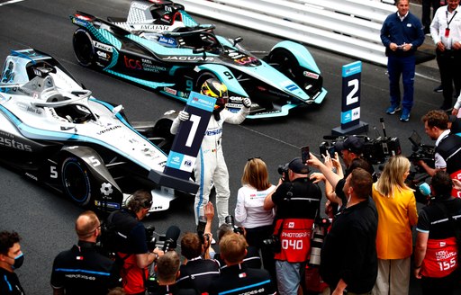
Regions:
[[[376,251],[379,259],[402,259],[412,251],[411,227],[418,222],[416,199],[411,190],[396,191],[391,197],[377,192],[373,184],[373,201],[378,210]]]

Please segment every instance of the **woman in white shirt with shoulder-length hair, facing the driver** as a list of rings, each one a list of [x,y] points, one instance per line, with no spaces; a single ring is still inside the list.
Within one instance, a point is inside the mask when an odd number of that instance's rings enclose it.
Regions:
[[[243,168],[241,184],[242,187],[237,194],[235,220],[246,229],[249,246],[261,249],[264,268],[275,279],[274,254],[263,244],[263,240],[271,238],[274,231],[274,211],[264,210],[264,200],[267,194],[276,189],[276,186],[269,182],[266,163],[259,157],[249,158]]]

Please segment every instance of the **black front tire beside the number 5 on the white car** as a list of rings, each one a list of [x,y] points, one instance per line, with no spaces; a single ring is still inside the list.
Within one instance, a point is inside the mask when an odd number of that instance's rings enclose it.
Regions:
[[[86,207],[91,201],[91,181],[86,165],[77,157],[66,158],[61,165],[63,191],[78,206]]]

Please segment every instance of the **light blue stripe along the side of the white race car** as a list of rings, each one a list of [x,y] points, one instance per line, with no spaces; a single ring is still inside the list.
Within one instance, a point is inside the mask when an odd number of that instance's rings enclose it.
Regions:
[[[120,154],[122,156],[126,156],[133,163],[135,163],[136,165],[140,165],[141,167],[143,167],[144,169],[146,169],[148,171],[150,171],[152,169],[152,167],[150,167],[149,165],[145,165],[144,163],[140,162],[139,160],[137,160],[135,158],[132,158],[130,155],[122,154],[120,149],[118,149],[116,147],[113,147],[112,145],[108,145],[106,142],[104,142],[102,140],[98,140],[98,139],[94,139],[94,138],[90,138],[90,137],[86,137],[86,136],[81,136],[81,135],[77,135],[77,134],[68,134],[66,132],[41,130],[41,129],[38,129],[38,128],[31,127],[29,125],[24,124],[23,121],[19,120],[14,115],[14,113],[12,113],[12,112],[8,111],[7,109],[5,109],[5,107],[3,105],[0,105],[0,112],[3,112],[6,115],[6,117],[9,118],[14,123],[16,128],[18,130],[20,130],[20,132],[26,138],[29,138],[29,139],[44,139],[44,140],[63,140],[63,141],[64,140],[71,140],[71,141],[76,140],[76,141],[82,141],[82,142],[91,142],[91,143],[95,143],[95,144],[97,144],[99,146],[102,146],[104,148],[111,149],[114,152],[116,152],[117,154]],[[158,148],[157,146],[152,144],[149,140],[148,140],[148,142],[153,147]],[[69,142],[69,143],[71,143],[71,142]]]

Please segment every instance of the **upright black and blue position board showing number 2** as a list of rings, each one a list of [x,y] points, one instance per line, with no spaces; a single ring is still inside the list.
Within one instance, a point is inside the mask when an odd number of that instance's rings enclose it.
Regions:
[[[341,129],[358,125],[360,121],[360,76],[362,62],[342,67]]]

